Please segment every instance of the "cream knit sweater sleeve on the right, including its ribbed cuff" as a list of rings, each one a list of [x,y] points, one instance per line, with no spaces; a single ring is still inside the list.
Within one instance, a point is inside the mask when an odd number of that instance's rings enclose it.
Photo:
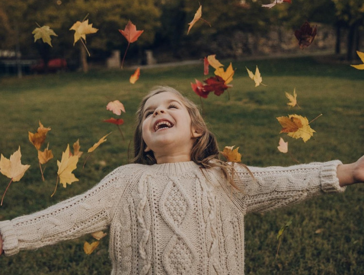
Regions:
[[[336,168],[340,161],[310,163],[290,167],[234,166],[234,177],[241,192],[234,192],[235,203],[244,213],[263,212],[331,192],[344,192]]]

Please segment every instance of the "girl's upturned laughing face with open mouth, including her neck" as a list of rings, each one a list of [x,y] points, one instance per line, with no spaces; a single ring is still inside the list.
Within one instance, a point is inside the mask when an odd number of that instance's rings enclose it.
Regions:
[[[190,160],[194,138],[190,115],[181,99],[172,92],[151,96],[143,110],[142,136],[157,163]],[[166,160],[167,159],[167,160]]]

